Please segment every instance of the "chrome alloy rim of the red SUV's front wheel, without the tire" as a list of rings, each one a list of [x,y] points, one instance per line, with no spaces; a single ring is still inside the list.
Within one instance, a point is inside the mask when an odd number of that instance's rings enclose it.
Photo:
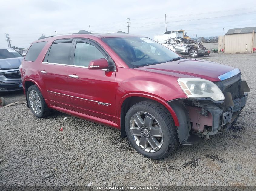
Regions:
[[[161,126],[149,113],[135,113],[130,120],[130,132],[134,142],[146,152],[156,152],[163,145]]]

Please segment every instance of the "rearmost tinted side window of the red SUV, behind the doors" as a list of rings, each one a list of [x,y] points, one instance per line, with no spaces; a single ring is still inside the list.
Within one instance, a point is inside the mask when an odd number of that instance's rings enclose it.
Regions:
[[[30,48],[28,49],[28,52],[27,52],[24,60],[34,62],[37,59],[40,52],[42,51],[42,49],[44,48],[46,43],[47,43],[47,41],[33,43],[30,46]]]

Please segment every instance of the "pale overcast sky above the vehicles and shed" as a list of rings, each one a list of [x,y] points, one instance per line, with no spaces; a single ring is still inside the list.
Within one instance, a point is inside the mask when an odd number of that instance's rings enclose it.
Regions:
[[[256,26],[255,0],[215,1],[78,1],[78,0],[0,0],[0,47],[28,48],[42,33],[46,36],[77,33],[128,32],[153,38],[167,30],[183,29],[187,35],[222,35],[230,28]]]

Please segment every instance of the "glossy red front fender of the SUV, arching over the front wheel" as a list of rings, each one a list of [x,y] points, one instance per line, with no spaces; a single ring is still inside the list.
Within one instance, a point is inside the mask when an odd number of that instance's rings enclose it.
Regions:
[[[117,113],[125,99],[131,96],[145,97],[165,106],[171,113],[175,125],[179,126],[178,118],[167,103],[170,100],[187,98],[180,88],[178,76],[143,71],[140,69],[118,68],[116,73],[116,106]]]

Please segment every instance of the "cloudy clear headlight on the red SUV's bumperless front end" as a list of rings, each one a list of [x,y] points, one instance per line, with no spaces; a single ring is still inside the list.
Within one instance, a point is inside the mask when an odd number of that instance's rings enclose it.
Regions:
[[[200,78],[179,78],[178,83],[190,98],[210,97],[214,101],[224,100],[225,96],[216,84]]]

